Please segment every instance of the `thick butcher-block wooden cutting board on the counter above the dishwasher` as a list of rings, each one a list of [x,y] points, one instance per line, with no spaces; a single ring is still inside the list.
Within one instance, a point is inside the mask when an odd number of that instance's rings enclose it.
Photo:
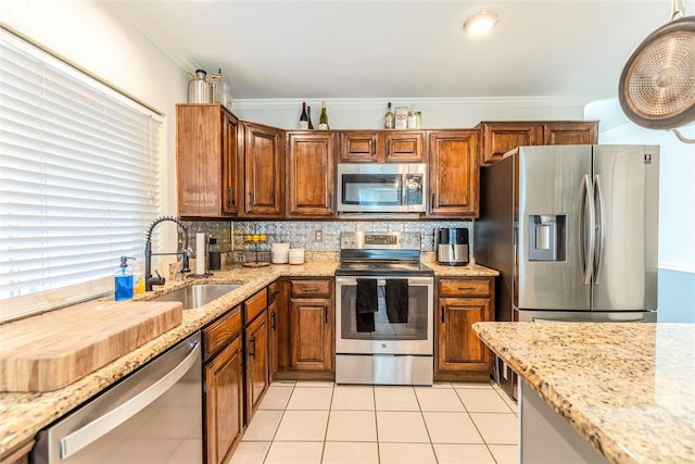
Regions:
[[[0,391],[51,391],[181,324],[180,302],[93,301],[0,325]]]

